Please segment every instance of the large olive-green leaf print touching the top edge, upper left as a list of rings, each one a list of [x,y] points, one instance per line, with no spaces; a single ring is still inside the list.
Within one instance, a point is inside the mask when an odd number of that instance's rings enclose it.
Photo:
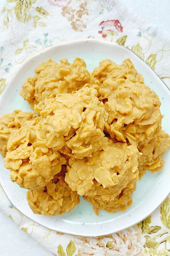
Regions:
[[[31,16],[27,14],[29,9],[31,8],[31,0],[18,0],[16,1],[16,5],[14,7],[15,15],[20,22],[28,22]]]

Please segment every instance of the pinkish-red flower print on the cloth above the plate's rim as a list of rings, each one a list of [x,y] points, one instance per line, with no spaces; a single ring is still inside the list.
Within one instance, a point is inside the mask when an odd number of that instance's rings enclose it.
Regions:
[[[114,35],[118,35],[118,32],[123,32],[123,27],[121,26],[119,20],[107,20],[102,21],[99,24],[101,30],[99,31],[102,34],[102,37],[111,37],[111,41]]]

